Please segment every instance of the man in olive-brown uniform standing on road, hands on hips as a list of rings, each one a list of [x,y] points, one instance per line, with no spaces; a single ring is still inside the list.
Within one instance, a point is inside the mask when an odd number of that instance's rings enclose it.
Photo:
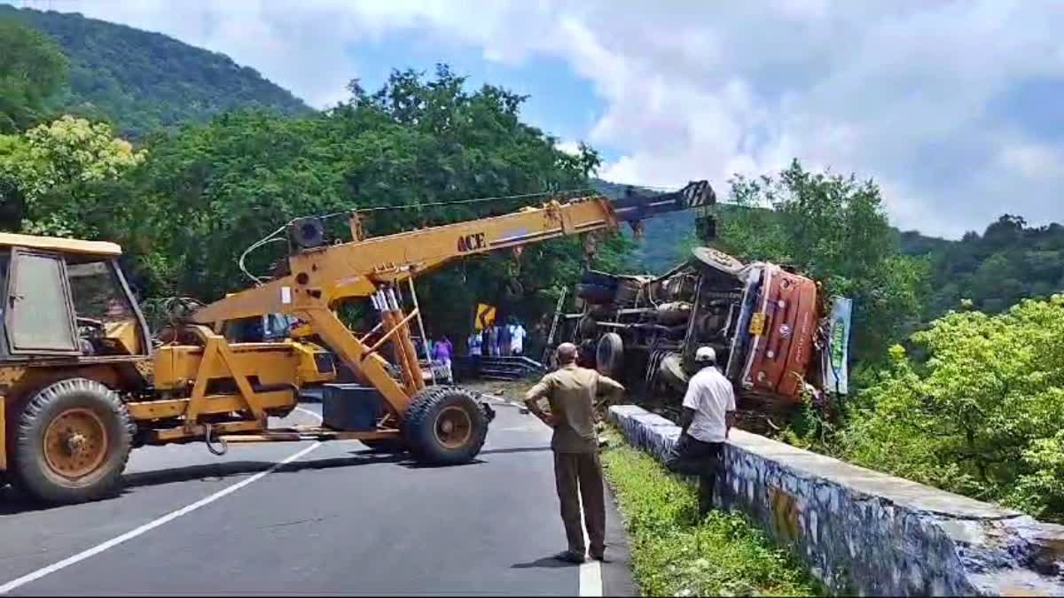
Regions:
[[[595,399],[598,395],[619,397],[625,387],[594,369],[577,366],[577,346],[559,345],[558,369],[545,376],[525,396],[529,411],[554,429],[550,448],[554,451],[554,479],[562,506],[562,521],[569,543],[568,550],[556,558],[583,563],[584,533],[580,517],[583,499],[583,522],[592,559],[605,558],[605,491],[602,465],[598,455],[598,434],[595,431]],[[546,398],[550,414],[538,405]],[[579,495],[578,495],[579,492]]]

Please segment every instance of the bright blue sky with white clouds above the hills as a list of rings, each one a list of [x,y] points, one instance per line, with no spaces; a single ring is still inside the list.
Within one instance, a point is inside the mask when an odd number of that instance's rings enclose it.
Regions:
[[[438,62],[661,187],[799,159],[881,187],[903,230],[1064,220],[1064,1],[9,0],[230,55],[315,107]]]

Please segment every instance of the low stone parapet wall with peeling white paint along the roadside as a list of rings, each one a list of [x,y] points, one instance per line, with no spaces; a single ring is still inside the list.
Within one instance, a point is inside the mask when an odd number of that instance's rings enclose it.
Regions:
[[[659,461],[680,436],[634,405],[610,409]],[[747,513],[832,592],[1064,595],[1064,526],[732,430],[717,506]]]

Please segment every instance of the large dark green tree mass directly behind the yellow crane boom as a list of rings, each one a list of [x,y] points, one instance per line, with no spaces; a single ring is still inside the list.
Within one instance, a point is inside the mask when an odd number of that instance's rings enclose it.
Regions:
[[[598,165],[591,148],[559,151],[521,122],[522,97],[491,85],[469,92],[444,66],[432,79],[395,71],[372,94],[356,82],[351,89],[349,101],[305,118],[231,113],[150,140],[146,162],[111,188],[112,202],[135,203],[116,234],[147,292],[212,300],[246,287],[240,253],[297,216],[402,206],[369,213],[367,233],[387,234],[538,204],[586,188]],[[446,204],[470,198],[497,199]],[[596,260],[625,248],[608,236]],[[248,266],[264,273],[283,256],[283,244],[268,245]],[[470,258],[421,281],[420,302],[437,334],[465,337],[477,301],[530,319],[553,308],[580,268],[576,239]]]

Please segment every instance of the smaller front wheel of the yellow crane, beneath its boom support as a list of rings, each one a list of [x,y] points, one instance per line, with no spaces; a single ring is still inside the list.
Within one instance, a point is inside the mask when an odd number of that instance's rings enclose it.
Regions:
[[[487,418],[472,393],[432,386],[406,409],[403,435],[411,453],[432,465],[459,465],[477,456],[487,437]]]

